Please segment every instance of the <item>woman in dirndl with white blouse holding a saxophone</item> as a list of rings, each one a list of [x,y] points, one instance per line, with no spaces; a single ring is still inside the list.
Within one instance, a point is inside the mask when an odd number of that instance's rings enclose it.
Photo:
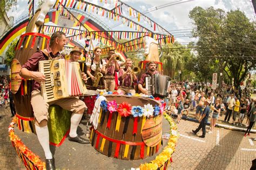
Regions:
[[[106,62],[100,58],[102,55],[102,49],[100,47],[94,49],[94,55],[95,57],[91,59],[91,61],[88,60],[86,63],[86,73],[91,77],[87,80],[86,88],[88,90],[97,90],[101,92],[105,91],[103,75],[105,74]]]

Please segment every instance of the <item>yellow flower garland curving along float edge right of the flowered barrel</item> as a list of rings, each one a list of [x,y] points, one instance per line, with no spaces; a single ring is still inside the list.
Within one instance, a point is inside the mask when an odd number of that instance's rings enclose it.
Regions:
[[[167,145],[163,148],[163,151],[157,155],[156,159],[150,161],[146,164],[140,164],[139,168],[140,170],[151,170],[151,169],[158,169],[163,166],[166,166],[166,162],[171,161],[172,162],[172,153],[175,151],[176,142],[178,139],[177,134],[177,126],[166,112],[163,113],[165,119],[169,121],[170,124],[170,138],[167,142]]]

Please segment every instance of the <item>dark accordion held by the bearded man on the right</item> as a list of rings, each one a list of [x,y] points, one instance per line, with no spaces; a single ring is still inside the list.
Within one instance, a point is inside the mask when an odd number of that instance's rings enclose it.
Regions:
[[[168,96],[168,87],[171,84],[171,78],[161,74],[154,74],[152,77],[145,78],[146,89],[150,95],[158,97]]]

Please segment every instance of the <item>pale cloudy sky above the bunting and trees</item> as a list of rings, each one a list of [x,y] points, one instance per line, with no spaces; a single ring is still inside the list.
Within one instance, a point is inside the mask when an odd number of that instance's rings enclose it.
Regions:
[[[99,0],[86,0],[91,3],[98,4]],[[114,0],[107,0],[113,5]],[[146,15],[153,19],[166,30],[170,31],[174,38],[179,42],[189,42],[189,31],[193,28],[193,21],[188,17],[188,13],[195,6],[201,6],[202,8],[208,8],[214,6],[214,8],[220,8],[225,11],[240,9],[245,15],[255,21],[255,15],[250,0],[122,0],[123,2],[133,6],[133,8],[141,11],[148,12]],[[37,2],[37,1],[36,1]],[[17,0],[17,6],[13,8],[8,15],[14,16],[15,19],[26,15],[28,13],[28,0]],[[179,3],[179,4],[177,4]],[[156,10],[156,7],[158,10]],[[160,8],[160,9],[159,9]],[[149,12],[151,11],[151,12]],[[121,26],[116,26],[116,23],[105,21],[114,30],[122,30]]]

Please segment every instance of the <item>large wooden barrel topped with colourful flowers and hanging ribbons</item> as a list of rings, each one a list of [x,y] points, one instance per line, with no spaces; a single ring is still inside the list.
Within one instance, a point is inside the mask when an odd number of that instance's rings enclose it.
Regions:
[[[91,131],[92,146],[108,157],[125,160],[144,159],[157,153],[164,105],[144,97],[104,97],[95,105],[97,108],[99,104],[100,113],[97,126]]]

